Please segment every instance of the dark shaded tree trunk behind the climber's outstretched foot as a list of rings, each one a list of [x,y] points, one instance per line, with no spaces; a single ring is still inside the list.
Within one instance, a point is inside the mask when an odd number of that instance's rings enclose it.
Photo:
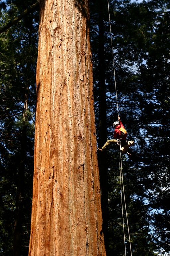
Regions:
[[[106,121],[106,84],[105,84],[105,49],[104,49],[104,13],[103,1],[99,0],[99,147],[107,141]],[[105,238],[106,252],[108,254],[108,164],[107,152],[99,152],[98,157],[101,206],[103,217],[103,231]]]

